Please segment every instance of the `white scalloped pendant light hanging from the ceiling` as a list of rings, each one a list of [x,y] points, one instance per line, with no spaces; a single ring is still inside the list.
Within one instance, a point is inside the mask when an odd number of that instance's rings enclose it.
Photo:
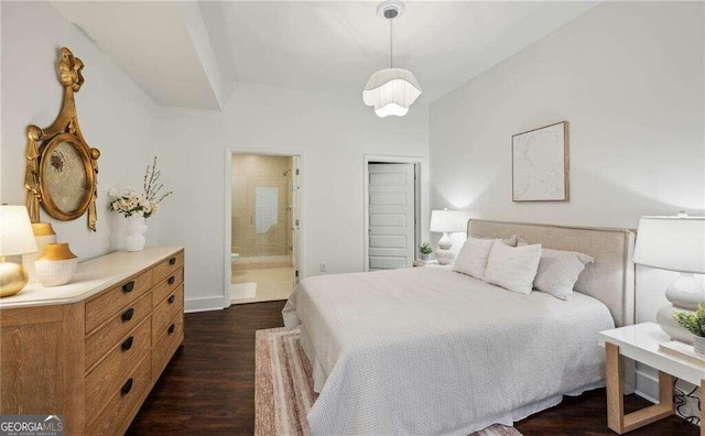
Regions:
[[[389,68],[380,69],[367,80],[362,101],[367,106],[375,107],[375,113],[380,118],[405,116],[409,107],[421,95],[421,85],[413,73],[394,68],[392,64],[392,22],[403,12],[404,3],[399,0],[387,0],[377,7],[377,13],[389,20]]]

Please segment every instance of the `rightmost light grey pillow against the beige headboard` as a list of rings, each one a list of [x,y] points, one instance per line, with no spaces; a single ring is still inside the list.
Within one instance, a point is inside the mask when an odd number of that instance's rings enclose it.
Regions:
[[[585,265],[595,261],[575,251],[543,249],[533,287],[561,299],[571,299],[573,286]]]

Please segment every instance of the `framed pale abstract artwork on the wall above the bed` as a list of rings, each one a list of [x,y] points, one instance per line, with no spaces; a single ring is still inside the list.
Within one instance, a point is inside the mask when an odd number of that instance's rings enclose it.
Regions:
[[[567,201],[568,122],[511,137],[512,201]]]

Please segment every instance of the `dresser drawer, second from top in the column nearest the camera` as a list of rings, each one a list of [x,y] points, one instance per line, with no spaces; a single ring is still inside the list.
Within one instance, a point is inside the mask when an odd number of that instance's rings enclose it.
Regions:
[[[100,358],[122,341],[127,334],[140,321],[149,317],[152,312],[152,294],[147,293],[140,299],[132,302],[118,312],[108,324],[94,331],[86,338],[86,370],[94,366]]]

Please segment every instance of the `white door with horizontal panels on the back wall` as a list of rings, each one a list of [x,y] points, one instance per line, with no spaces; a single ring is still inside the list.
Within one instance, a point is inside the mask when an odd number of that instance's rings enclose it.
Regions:
[[[369,271],[411,266],[415,253],[414,164],[368,165]]]

